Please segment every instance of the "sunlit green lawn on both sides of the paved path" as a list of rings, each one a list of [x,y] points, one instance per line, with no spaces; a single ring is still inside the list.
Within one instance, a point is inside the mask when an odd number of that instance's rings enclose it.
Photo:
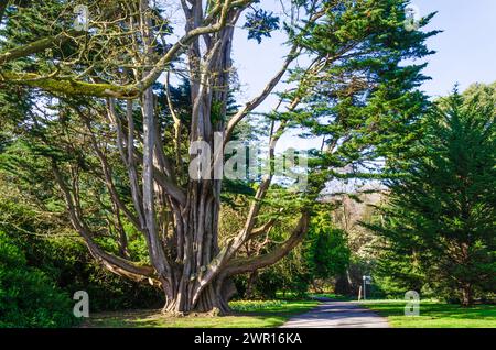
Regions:
[[[345,300],[336,295],[317,295]],[[266,300],[233,302],[233,315],[187,317],[164,316],[160,310],[129,310],[94,314],[82,327],[122,328],[272,328],[283,325],[294,315],[303,314],[319,302]],[[496,328],[496,305],[462,308],[434,300],[422,300],[420,315],[405,316],[405,300],[362,300],[359,305],[387,317],[393,328]]]

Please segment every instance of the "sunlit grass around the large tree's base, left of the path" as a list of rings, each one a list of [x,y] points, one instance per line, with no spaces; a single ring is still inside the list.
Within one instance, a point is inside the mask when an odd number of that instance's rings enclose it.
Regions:
[[[313,300],[233,302],[229,316],[164,316],[160,310],[134,310],[95,314],[83,327],[106,328],[270,328],[283,325],[319,303]]]

